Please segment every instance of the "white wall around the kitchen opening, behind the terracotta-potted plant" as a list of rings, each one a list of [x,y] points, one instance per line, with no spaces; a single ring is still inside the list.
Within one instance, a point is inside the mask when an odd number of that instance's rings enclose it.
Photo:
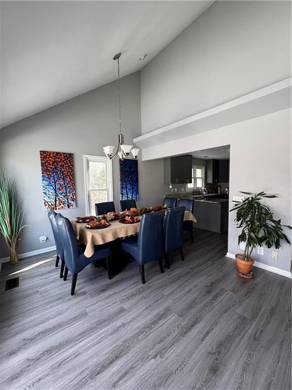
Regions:
[[[275,194],[277,199],[267,199],[267,204],[282,223],[291,222],[291,109],[250,119],[230,126],[197,134],[176,141],[143,149],[143,159],[164,158],[174,154],[230,145],[230,204],[239,191]],[[228,252],[242,252],[237,244],[239,230],[229,217]],[[285,233],[292,239],[289,230]],[[271,258],[271,249],[264,256],[256,251],[256,261],[290,271],[291,247],[282,243],[279,259]],[[207,250],[207,249],[206,249]]]

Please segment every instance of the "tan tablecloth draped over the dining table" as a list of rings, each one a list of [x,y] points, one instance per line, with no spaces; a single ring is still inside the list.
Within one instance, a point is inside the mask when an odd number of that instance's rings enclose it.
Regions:
[[[165,210],[166,212],[167,210]],[[139,220],[142,216],[139,216]],[[140,222],[136,223],[121,223],[120,219],[111,220],[109,226],[103,229],[88,229],[87,223],[76,222],[75,219],[71,220],[71,224],[76,234],[76,238],[79,243],[85,245],[84,255],[91,257],[94,253],[94,245],[102,245],[109,242],[116,242],[117,239],[125,238],[128,236],[139,233]],[[184,221],[197,222],[194,214],[191,211],[185,211]]]

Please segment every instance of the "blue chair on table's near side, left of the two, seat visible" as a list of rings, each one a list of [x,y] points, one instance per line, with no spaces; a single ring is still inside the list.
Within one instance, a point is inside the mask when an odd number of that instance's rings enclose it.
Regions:
[[[144,264],[158,259],[160,271],[164,272],[162,264],[163,220],[164,211],[143,214],[138,237],[122,241],[122,248],[130,253],[140,266],[143,284],[145,283]]]

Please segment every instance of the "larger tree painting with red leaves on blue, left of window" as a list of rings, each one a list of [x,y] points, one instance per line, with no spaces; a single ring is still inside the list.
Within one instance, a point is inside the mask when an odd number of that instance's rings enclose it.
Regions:
[[[76,207],[72,153],[40,151],[45,210]]]

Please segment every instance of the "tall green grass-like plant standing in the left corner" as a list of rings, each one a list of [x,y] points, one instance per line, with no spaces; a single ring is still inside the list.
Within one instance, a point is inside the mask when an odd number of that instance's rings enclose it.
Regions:
[[[16,193],[15,181],[0,172],[0,232],[10,252],[10,263],[17,264],[18,244],[23,224],[23,210]]]

